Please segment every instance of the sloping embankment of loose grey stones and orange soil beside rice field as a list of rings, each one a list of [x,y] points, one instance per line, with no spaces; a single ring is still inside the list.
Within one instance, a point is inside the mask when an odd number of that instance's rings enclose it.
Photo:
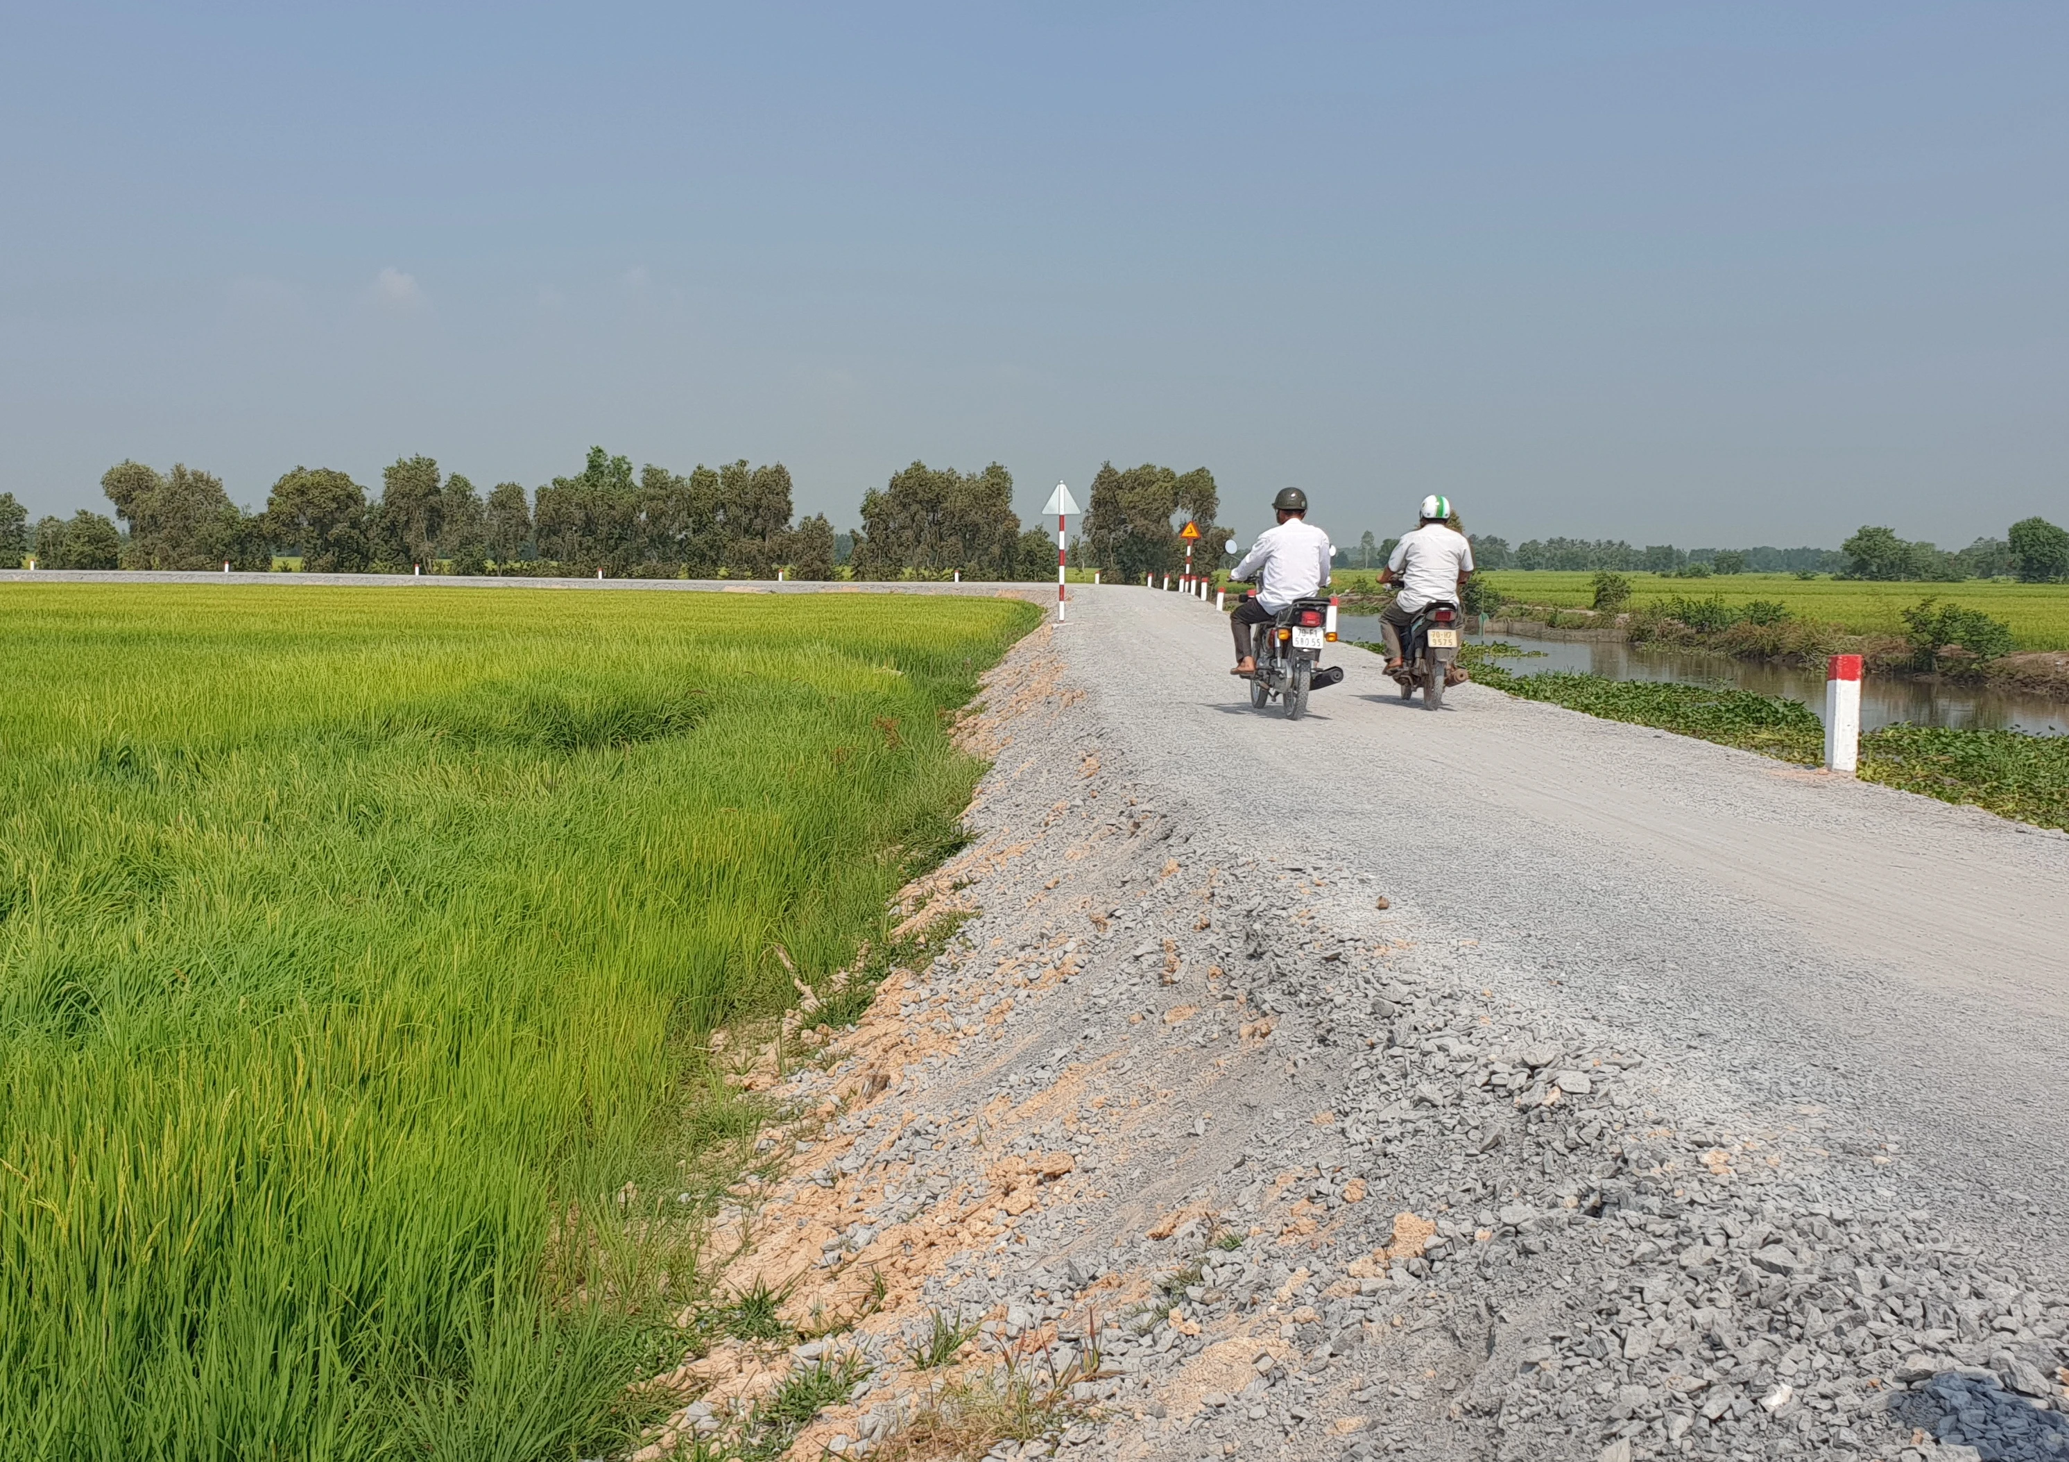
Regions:
[[[970,846],[904,891],[956,933],[852,1028],[743,1042],[770,1172],[712,1245],[768,1323],[658,1377],[641,1462],[2069,1435],[2069,1301],[1906,1195],[1897,1144],[1173,796],[1111,713],[1022,641],[962,724]]]

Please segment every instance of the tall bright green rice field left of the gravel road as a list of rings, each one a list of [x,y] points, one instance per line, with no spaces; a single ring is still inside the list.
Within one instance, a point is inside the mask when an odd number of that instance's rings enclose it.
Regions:
[[[0,593],[0,1456],[606,1445],[557,1235],[954,842],[1034,612]]]

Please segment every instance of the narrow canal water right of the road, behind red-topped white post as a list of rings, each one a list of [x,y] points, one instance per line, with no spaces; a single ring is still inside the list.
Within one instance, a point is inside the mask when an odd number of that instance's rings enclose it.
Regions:
[[[1380,620],[1374,614],[1345,614],[1343,639],[1380,641]],[[1757,660],[1732,660],[1690,649],[1649,649],[1610,641],[1525,639],[1523,635],[1467,635],[1469,643],[1498,639],[1517,649],[1537,651],[1502,660],[1515,674],[1539,670],[1581,670],[1606,680],[1680,680],[1682,684],[1723,684],[1759,695],[1802,701],[1825,715],[1825,676],[1817,670],[1771,666]],[[1891,676],[1868,676],[1860,682],[1862,730],[1877,726],[1953,726],[1980,730],[2021,730],[2034,736],[2069,734],[2069,705],[2040,695],[2003,691],[1972,691],[1955,684],[1930,684]]]

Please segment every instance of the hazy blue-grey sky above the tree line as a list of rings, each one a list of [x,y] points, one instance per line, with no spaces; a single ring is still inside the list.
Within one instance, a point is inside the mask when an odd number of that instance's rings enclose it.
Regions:
[[[0,4],[0,488],[1208,465],[1339,542],[2069,521],[2069,6]],[[1082,496],[1082,494],[1080,494]]]

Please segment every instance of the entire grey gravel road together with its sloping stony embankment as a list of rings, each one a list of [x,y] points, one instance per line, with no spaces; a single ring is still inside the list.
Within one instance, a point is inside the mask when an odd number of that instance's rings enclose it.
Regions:
[[[743,1075],[726,1282],[875,1309],[639,1462],[836,1361],[788,1458],[974,1456],[1008,1359],[991,1458],[2069,1458],[2069,840],[1339,660],[1289,724],[1177,596],[1014,649],[954,943]]]

